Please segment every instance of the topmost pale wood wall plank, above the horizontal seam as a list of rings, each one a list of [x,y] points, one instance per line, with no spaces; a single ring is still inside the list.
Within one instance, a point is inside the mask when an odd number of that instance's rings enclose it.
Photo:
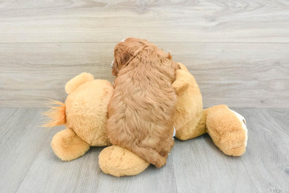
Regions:
[[[287,1],[11,1],[0,42],[289,42]]]

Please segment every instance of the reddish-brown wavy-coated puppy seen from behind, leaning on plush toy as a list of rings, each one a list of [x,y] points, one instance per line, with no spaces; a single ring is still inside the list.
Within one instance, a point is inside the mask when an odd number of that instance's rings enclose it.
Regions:
[[[127,38],[114,49],[114,93],[108,105],[108,137],[157,167],[166,163],[172,138],[180,65],[144,39]]]

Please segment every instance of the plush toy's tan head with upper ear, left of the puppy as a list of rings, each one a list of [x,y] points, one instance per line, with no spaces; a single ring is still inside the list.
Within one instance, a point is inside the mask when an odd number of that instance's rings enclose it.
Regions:
[[[91,146],[111,145],[106,136],[107,105],[114,88],[107,80],[82,73],[65,85],[67,128]]]

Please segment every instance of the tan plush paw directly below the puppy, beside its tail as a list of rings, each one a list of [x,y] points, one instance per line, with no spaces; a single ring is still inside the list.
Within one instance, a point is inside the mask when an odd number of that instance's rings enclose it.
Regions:
[[[117,145],[104,148],[98,156],[98,163],[104,173],[117,177],[137,175],[150,165],[136,154]]]

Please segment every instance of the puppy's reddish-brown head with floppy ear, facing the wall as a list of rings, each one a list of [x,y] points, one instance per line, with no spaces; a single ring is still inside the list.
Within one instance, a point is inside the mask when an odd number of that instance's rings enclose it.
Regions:
[[[141,48],[149,42],[139,38],[126,38],[116,44],[114,48],[114,61],[111,63],[111,73],[117,76],[119,71],[125,68],[129,62],[139,53]]]

